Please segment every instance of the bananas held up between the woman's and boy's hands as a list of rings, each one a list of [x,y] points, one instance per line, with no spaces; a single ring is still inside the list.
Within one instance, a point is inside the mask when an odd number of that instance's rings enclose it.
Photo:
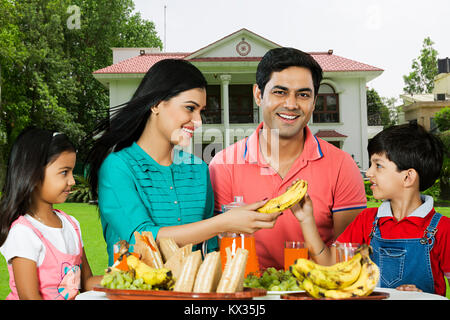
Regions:
[[[274,213],[289,209],[302,200],[307,189],[308,182],[305,180],[298,180],[291,187],[289,187],[285,193],[276,198],[270,199],[256,211],[261,213]]]

